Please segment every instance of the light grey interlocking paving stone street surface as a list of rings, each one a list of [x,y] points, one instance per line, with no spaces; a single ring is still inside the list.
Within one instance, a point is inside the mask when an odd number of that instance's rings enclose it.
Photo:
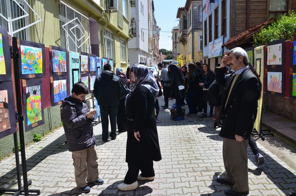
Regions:
[[[170,101],[170,106],[173,101]],[[163,98],[160,98],[163,105]],[[186,112],[188,109],[186,110]],[[199,113],[200,115],[200,113]],[[102,126],[94,127],[99,156],[99,177],[103,185],[91,185],[91,191],[81,193],[75,184],[71,152],[64,143],[63,128],[47,135],[42,141],[26,148],[30,189],[40,189],[41,195],[224,195],[229,185],[215,180],[223,174],[222,138],[213,128],[212,118],[186,117],[172,121],[169,110],[160,109],[157,124],[162,160],[155,163],[155,179],[139,181],[134,191],[119,191],[127,171],[126,133],[116,140],[101,141]],[[258,147],[265,164],[255,166],[254,155],[249,155],[249,195],[288,195],[296,192],[296,171],[266,150]],[[0,163],[0,188],[16,185],[15,157]]]

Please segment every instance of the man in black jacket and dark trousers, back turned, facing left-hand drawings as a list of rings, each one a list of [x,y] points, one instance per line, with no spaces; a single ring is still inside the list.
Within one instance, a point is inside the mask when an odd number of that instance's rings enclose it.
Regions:
[[[104,142],[108,140],[108,116],[111,124],[110,137],[112,140],[116,139],[116,115],[121,91],[119,78],[111,72],[111,65],[107,63],[103,67],[103,73],[96,77],[93,90],[94,96],[100,106],[103,129],[102,140]]]

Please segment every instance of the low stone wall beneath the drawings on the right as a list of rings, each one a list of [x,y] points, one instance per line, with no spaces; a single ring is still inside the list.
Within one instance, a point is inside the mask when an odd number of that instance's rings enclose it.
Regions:
[[[263,93],[263,104],[266,111],[296,121],[296,99]]]

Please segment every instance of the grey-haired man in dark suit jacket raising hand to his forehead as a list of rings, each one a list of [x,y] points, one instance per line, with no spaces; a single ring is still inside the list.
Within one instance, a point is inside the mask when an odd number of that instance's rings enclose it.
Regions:
[[[235,71],[225,75],[226,65]],[[245,195],[249,193],[247,146],[254,126],[254,113],[257,113],[260,88],[257,76],[248,66],[244,49],[234,48],[227,55],[224,52],[221,66],[216,69],[216,81],[226,83],[219,136],[223,137],[223,161],[227,173],[217,182],[233,185],[232,189],[224,191],[225,195]]]

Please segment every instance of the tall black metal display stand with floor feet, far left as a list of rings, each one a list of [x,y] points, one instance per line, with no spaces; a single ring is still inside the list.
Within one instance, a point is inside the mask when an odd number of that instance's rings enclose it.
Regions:
[[[21,184],[21,175],[20,175],[20,161],[18,155],[18,142],[17,142],[17,133],[13,134],[14,144],[15,144],[15,160],[16,160],[16,169],[17,169],[17,185],[18,189],[1,189],[0,193],[14,193],[13,195],[32,195],[29,193],[36,193],[33,195],[40,195],[40,190],[38,189],[29,189],[28,187],[32,184],[31,180],[28,180],[27,175],[27,164],[26,164],[26,152],[25,152],[25,139],[24,139],[24,127],[23,121],[24,116],[22,114],[22,100],[21,100],[21,92],[20,92],[20,74],[19,74],[19,53],[17,48],[17,38],[12,37],[12,50],[11,57],[13,58],[13,68],[14,68],[14,78],[15,78],[15,94],[16,94],[16,119],[19,127],[20,134],[20,148],[21,148],[21,159],[22,159],[22,177],[24,186]]]

